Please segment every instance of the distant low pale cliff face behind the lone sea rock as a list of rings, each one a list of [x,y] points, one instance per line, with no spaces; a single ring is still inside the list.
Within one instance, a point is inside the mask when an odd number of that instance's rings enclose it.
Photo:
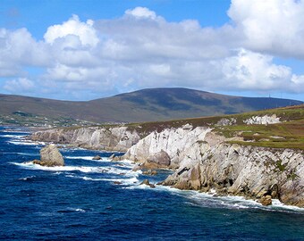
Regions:
[[[127,127],[47,129],[35,132],[30,136],[30,139],[34,141],[117,152],[126,152],[131,145],[139,141],[139,138],[136,130],[131,131]]]

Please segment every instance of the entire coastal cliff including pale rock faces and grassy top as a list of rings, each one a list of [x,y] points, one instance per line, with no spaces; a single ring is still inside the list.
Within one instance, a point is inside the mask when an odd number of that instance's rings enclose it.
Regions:
[[[112,128],[50,129],[30,138],[122,151],[139,168],[175,170],[163,185],[304,207],[303,126],[300,105]]]

